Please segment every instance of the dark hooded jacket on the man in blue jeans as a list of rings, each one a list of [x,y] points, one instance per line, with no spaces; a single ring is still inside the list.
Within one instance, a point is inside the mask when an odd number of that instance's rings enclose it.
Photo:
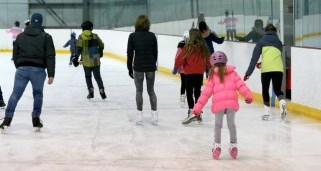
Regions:
[[[55,46],[52,37],[40,25],[31,24],[19,34],[13,47],[16,68],[34,66],[47,68],[48,77],[55,76]]]

